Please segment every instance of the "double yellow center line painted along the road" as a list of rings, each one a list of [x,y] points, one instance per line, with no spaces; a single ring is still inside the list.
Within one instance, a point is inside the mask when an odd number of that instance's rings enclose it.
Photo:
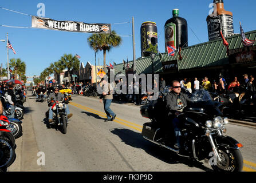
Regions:
[[[87,111],[89,111],[89,112],[92,112],[93,114],[98,114],[98,115],[101,116],[101,117],[106,117],[106,114],[103,113],[103,112],[99,112],[99,111],[97,111],[97,110],[94,110],[94,109],[91,109],[91,108],[87,108],[87,107],[85,107],[85,106],[83,106],[83,105],[80,105],[80,104],[77,104],[77,103],[74,103],[74,102],[69,102],[69,104],[71,104],[71,105],[73,105],[73,106],[76,106],[77,108],[84,109],[84,110],[87,110]],[[143,126],[137,125],[137,124],[133,124],[132,122],[123,120],[123,119],[121,119],[121,118],[115,118],[115,120],[114,120],[115,122],[117,122],[117,123],[119,123],[119,124],[128,126],[129,128],[132,128],[132,129],[135,129],[135,130],[137,130],[137,131],[139,131],[139,132],[142,132],[142,129],[139,129],[139,128],[136,128],[136,127],[134,127],[134,126],[125,124],[125,123],[123,123],[123,122],[121,122],[121,121],[119,121],[119,120],[124,121],[124,122],[127,122],[127,123],[132,124],[132,125],[139,126],[139,127],[141,127],[141,128],[142,128]],[[250,166],[256,167],[256,164],[253,163],[253,162],[250,162],[250,161],[243,160],[243,163],[246,164],[246,165],[250,165]],[[251,168],[248,168],[248,167],[246,167],[246,166],[243,166],[243,171],[246,171],[246,172],[256,172],[256,170],[251,169]]]

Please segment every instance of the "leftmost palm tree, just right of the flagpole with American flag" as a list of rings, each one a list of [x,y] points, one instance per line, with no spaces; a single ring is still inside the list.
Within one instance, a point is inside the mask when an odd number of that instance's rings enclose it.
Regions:
[[[18,58],[18,59],[11,58],[10,59],[10,68],[13,69],[15,79],[18,79],[17,75],[19,75],[19,77],[20,77],[21,75],[24,75],[26,73],[26,63],[21,61],[20,58]]]

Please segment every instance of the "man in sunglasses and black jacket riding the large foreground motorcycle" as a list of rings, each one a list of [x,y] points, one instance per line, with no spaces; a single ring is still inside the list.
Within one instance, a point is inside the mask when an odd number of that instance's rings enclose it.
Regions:
[[[187,102],[191,102],[188,96],[181,93],[181,86],[179,81],[172,81],[172,92],[166,96],[166,108],[168,110],[168,117],[172,119],[172,125],[174,127],[174,133],[176,137],[175,148],[180,148],[180,129],[179,120],[177,116],[182,113],[183,108],[187,106]]]

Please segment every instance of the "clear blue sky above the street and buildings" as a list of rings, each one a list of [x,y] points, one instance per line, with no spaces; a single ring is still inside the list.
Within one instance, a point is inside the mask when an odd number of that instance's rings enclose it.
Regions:
[[[136,58],[140,54],[140,26],[145,21],[156,22],[158,31],[158,48],[164,52],[164,23],[172,17],[172,9],[179,9],[180,17],[187,19],[188,45],[208,41],[206,17],[210,11],[212,0],[180,0],[180,1],[151,1],[151,0],[109,0],[109,1],[66,1],[66,0],[22,0],[0,1],[0,6],[6,9],[37,15],[37,4],[45,4],[45,17],[60,21],[81,21],[85,23],[120,23],[131,22],[135,18]],[[240,33],[239,21],[245,32],[255,30],[255,0],[224,0],[225,9],[234,15],[234,32]],[[0,24],[11,26],[31,26],[31,17],[0,9]],[[132,24],[112,25],[120,35],[132,35]],[[9,39],[17,54],[9,49],[9,58],[21,58],[27,65],[26,75],[40,75],[41,71],[58,61],[64,53],[78,54],[80,61],[94,65],[94,51],[90,49],[88,33],[71,33],[44,29],[17,29],[0,26],[0,39]],[[121,63],[123,59],[132,60],[132,37],[122,37],[121,46],[107,52],[107,64]],[[6,66],[6,43],[0,42],[0,63]],[[103,65],[103,51],[97,53],[100,64]]]

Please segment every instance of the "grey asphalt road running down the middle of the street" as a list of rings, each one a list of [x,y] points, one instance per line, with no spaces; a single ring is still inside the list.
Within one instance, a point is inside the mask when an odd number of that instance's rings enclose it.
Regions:
[[[111,109],[117,117],[115,121],[104,122],[106,115],[99,99],[84,96],[72,99],[69,110],[73,117],[66,134],[46,127],[46,102],[36,102],[30,93],[25,102],[29,119],[25,118],[23,123],[30,120],[33,125],[37,149],[45,154],[42,166],[45,171],[211,171],[204,161],[193,163],[144,140],[140,133],[144,122],[149,120],[141,117],[139,106],[112,102]],[[255,132],[254,128],[227,125],[227,135],[243,144],[245,171],[256,171]],[[22,154],[21,159],[25,156]],[[37,154],[30,156],[38,159]]]

